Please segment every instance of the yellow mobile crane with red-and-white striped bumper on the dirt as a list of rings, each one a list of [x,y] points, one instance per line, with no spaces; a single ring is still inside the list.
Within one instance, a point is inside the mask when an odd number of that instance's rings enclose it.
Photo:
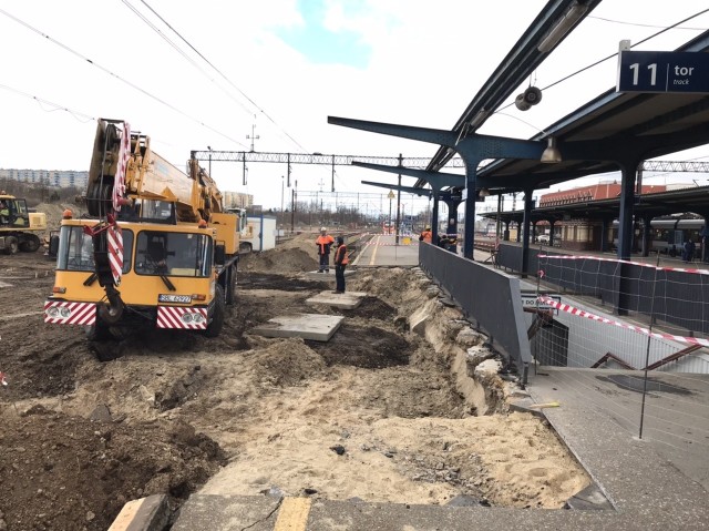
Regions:
[[[91,340],[138,326],[217,336],[234,304],[239,219],[195,159],[183,173],[122,121],[99,120],[88,216],[62,221],[45,323]]]

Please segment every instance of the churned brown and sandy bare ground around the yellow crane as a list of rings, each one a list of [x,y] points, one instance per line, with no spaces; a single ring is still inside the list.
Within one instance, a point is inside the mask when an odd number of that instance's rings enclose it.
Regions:
[[[100,362],[81,329],[43,324],[42,252],[0,255],[0,530],[105,530],[153,493],[561,508],[587,484],[543,421],[507,412],[499,365],[473,371],[484,337],[428,279],[358,272],[369,295],[347,312],[306,305],[332,288],[315,267],[309,236],[253,255],[220,337],[156,330]],[[289,313],[346,319],[327,344],[249,334]]]

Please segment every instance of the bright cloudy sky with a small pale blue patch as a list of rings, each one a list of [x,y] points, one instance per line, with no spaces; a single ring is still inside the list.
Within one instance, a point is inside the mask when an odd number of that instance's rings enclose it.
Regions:
[[[127,121],[178,167],[192,150],[250,151],[251,143],[256,152],[432,156],[436,145],[327,119],[450,130],[546,3],[0,0],[0,167],[88,170],[97,118]],[[615,53],[623,39],[640,41],[707,9],[707,0],[604,0],[479,132],[536,134],[614,86],[617,60],[543,90],[526,112],[506,106],[517,92],[544,89]],[[635,50],[674,50],[707,28],[709,13]],[[709,146],[664,159],[709,161]],[[247,185],[240,164],[213,162],[212,174],[222,190],[254,194],[266,207],[290,197],[285,164],[250,163]],[[690,177],[709,183],[703,174],[677,178]],[[294,165],[291,178],[305,196],[328,191],[332,174]],[[387,193],[362,180],[395,176],[336,167],[338,192]],[[371,207],[387,210],[381,201]]]

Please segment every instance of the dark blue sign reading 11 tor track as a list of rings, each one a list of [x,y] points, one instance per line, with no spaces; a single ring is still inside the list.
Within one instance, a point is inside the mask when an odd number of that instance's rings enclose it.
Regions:
[[[709,93],[709,53],[620,51],[616,92]]]

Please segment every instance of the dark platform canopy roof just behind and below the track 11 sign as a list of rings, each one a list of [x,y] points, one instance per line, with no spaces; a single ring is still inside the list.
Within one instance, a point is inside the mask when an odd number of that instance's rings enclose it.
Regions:
[[[709,52],[709,31],[678,52]],[[618,171],[617,161],[649,160],[709,143],[709,94],[609,89],[530,140],[556,139],[562,162],[496,160],[479,170],[491,194],[546,188]]]

